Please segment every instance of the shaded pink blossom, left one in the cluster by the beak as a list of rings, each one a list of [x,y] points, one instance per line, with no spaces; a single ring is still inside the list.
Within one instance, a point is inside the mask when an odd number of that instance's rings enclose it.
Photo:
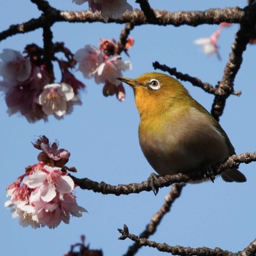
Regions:
[[[94,71],[103,61],[100,50],[93,45],[86,45],[85,48],[78,50],[74,55],[75,61],[78,61],[78,69],[85,78],[94,76]]]

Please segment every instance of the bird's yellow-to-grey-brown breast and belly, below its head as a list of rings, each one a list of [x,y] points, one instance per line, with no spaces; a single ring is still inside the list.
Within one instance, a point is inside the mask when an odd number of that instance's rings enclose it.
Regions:
[[[160,175],[188,172],[229,157],[225,138],[195,108],[142,119],[140,147]]]

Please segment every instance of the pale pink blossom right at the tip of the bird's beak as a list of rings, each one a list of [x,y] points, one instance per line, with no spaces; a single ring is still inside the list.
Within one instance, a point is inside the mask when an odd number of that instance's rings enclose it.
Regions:
[[[105,83],[108,80],[110,83],[121,84],[119,78],[122,76],[122,71],[126,71],[132,68],[130,61],[123,61],[120,56],[112,56],[99,65],[95,70],[95,82],[96,83]]]

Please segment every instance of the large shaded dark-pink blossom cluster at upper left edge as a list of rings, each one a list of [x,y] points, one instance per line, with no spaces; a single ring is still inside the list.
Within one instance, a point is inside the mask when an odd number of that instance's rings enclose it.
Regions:
[[[0,91],[4,91],[10,115],[20,112],[29,122],[48,116],[63,118],[80,105],[79,91],[84,84],[69,71],[65,61],[58,61],[61,82],[50,83],[45,63],[34,45],[26,48],[26,56],[17,50],[4,49],[0,54]]]

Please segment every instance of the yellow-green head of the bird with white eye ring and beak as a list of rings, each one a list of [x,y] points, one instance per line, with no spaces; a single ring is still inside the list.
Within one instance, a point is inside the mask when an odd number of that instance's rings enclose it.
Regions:
[[[140,113],[156,113],[170,109],[172,105],[182,104],[189,93],[178,80],[157,72],[140,75],[138,78],[118,78],[132,87],[135,102]]]

